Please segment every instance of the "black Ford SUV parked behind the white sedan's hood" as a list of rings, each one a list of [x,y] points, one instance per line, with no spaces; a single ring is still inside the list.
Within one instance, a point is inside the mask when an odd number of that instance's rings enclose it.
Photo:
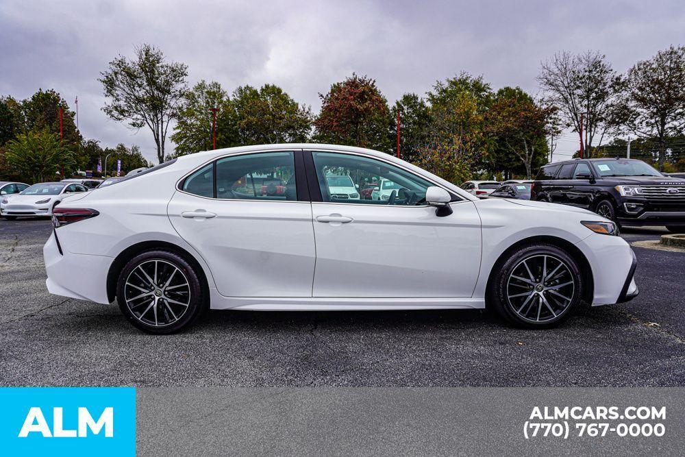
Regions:
[[[666,225],[685,232],[685,180],[642,160],[575,159],[540,169],[531,199],[594,211],[619,225]]]

